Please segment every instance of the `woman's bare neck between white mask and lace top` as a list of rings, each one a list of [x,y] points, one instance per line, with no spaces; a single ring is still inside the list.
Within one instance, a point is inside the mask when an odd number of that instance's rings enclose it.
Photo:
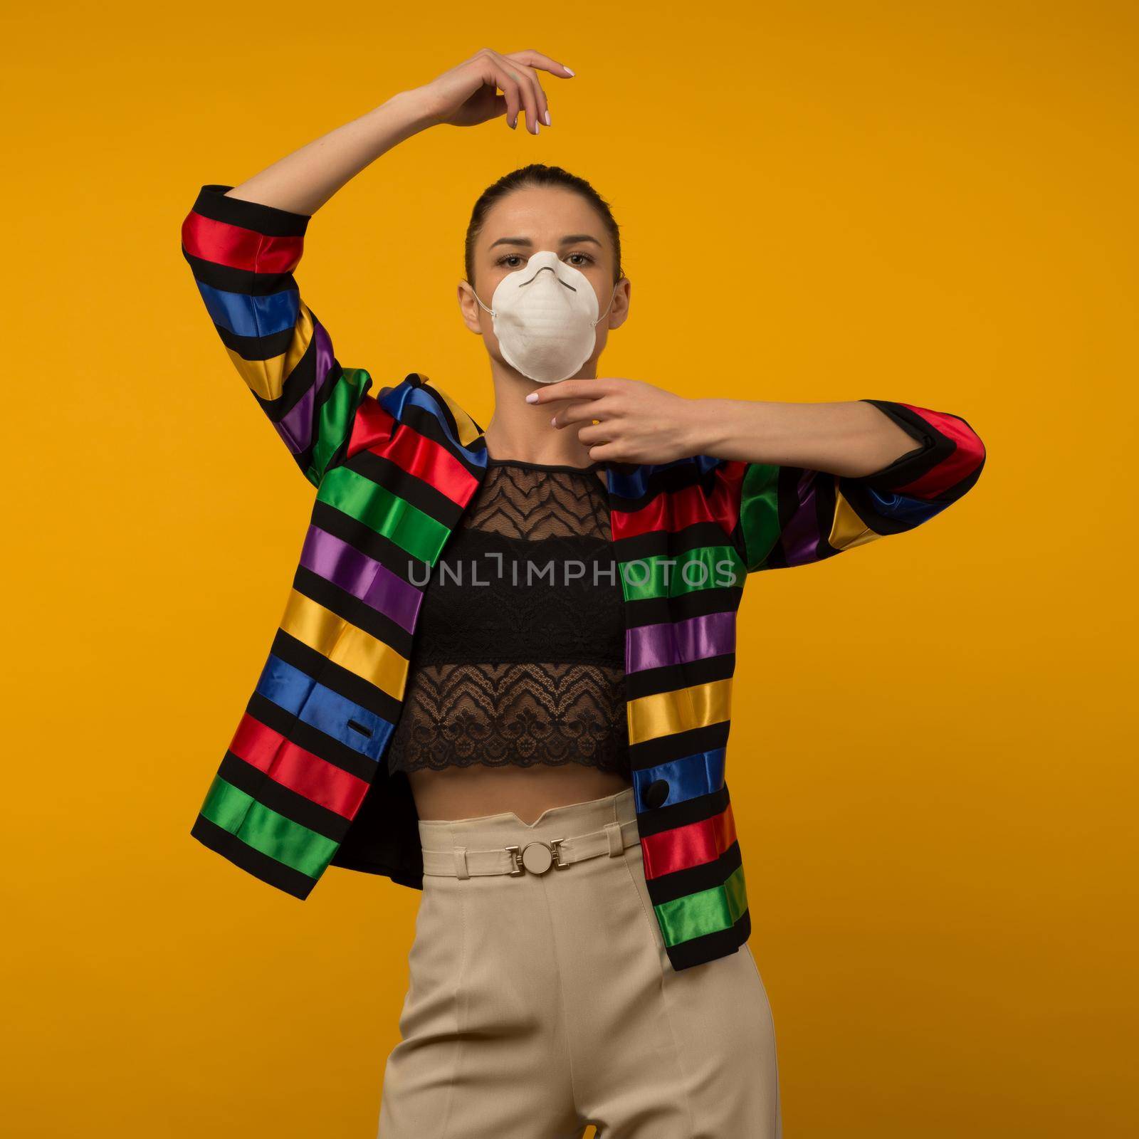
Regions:
[[[588,360],[574,379],[596,379],[597,361]],[[544,384],[523,376],[509,364],[491,359],[494,384],[494,412],[486,425],[486,453],[492,459],[517,459],[519,462],[542,462],[588,467],[592,461],[589,448],[577,441],[577,426],[551,427],[550,418],[564,408],[565,401],[531,404],[526,396]],[[583,426],[583,425],[581,425]]]

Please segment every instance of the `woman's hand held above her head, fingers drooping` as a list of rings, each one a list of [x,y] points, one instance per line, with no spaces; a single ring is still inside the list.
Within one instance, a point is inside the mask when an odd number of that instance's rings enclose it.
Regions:
[[[483,48],[439,79],[408,93],[423,101],[427,115],[436,123],[477,126],[505,115],[513,130],[522,113],[526,130],[536,134],[540,123],[550,125],[546,92],[538,79],[540,71],[558,79],[573,75],[568,67],[540,51],[500,55]]]

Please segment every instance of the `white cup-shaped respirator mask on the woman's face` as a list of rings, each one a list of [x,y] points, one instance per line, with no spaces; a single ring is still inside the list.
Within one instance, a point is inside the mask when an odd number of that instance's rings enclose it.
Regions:
[[[568,379],[593,354],[593,329],[613,308],[597,314],[597,294],[589,278],[543,249],[498,282],[487,309],[493,317],[502,358],[540,384]]]

